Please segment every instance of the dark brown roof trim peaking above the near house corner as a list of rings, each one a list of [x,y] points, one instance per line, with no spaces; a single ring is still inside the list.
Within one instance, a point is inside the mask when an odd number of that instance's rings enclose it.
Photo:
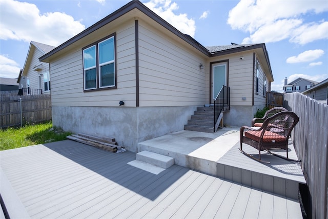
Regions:
[[[152,10],[147,8],[141,2],[139,2],[137,0],[133,0],[130,3],[126,4],[125,6],[121,7],[120,9],[114,11],[110,15],[106,16],[105,18],[101,19],[99,22],[95,23],[94,25],[92,25],[89,28],[85,29],[84,31],[80,32],[79,34],[73,36],[68,41],[66,41],[65,43],[59,45],[58,47],[56,47],[55,49],[53,49],[49,53],[39,57],[39,61],[44,61],[46,58],[52,56],[53,54],[59,52],[60,50],[62,50],[64,48],[70,46],[71,44],[79,41],[81,38],[87,36],[88,34],[94,32],[94,31],[96,31],[97,29],[107,25],[108,23],[114,21],[118,17],[128,13],[129,11],[131,11],[135,8],[137,8],[138,10],[140,10],[141,12],[146,14],[147,16],[151,17],[158,24],[160,24],[161,26],[167,28],[172,33],[179,36],[181,39],[183,39],[184,41],[186,41],[187,43],[189,43],[190,45],[192,45],[193,47],[195,47],[196,49],[201,51],[203,54],[206,54],[206,55],[210,56],[210,52],[205,47],[196,44],[194,41],[192,41],[192,39],[190,39],[189,37],[187,37],[185,34],[181,33],[180,31],[178,31],[176,28],[174,28],[168,22],[163,20],[161,17],[159,17],[157,14],[155,14]]]

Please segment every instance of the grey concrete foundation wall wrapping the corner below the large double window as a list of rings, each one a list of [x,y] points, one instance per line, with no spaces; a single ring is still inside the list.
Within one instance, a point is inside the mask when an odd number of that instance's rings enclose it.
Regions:
[[[65,131],[115,137],[119,146],[138,152],[139,142],[183,130],[196,108],[53,106],[52,120]]]

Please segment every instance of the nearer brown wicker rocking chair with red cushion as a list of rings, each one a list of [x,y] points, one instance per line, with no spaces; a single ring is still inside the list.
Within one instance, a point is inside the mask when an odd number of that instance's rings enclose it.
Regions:
[[[282,111],[267,118],[259,129],[243,126],[240,128],[239,150],[243,154],[248,155],[257,161],[261,161],[261,151],[264,150],[286,160],[296,161],[288,158],[288,140],[293,128],[298,123],[298,121],[299,118],[294,112]],[[244,152],[242,150],[242,143],[256,148],[259,151],[259,159]],[[286,157],[272,153],[269,150],[272,148],[286,150]]]

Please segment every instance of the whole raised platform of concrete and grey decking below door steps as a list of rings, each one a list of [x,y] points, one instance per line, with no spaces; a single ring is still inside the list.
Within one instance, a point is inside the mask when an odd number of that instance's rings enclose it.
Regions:
[[[257,162],[238,148],[239,127],[218,129],[216,133],[179,131],[154,138],[138,145],[139,151],[151,151],[174,158],[177,165],[211,174],[252,188],[272,192],[297,200],[298,184],[306,184],[300,164],[261,152]],[[243,144],[243,150],[258,156],[253,147]],[[285,156],[285,151],[273,151]],[[289,157],[297,158],[290,142]]]

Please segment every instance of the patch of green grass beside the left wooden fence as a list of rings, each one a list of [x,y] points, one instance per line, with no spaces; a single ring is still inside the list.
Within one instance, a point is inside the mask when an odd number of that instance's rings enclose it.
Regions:
[[[52,127],[52,122],[0,130],[0,150],[65,140],[70,132]]]

